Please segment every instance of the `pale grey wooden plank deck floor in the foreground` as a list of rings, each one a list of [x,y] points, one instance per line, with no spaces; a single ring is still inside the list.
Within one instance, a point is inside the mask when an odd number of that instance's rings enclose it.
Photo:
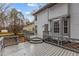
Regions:
[[[75,53],[47,43],[31,44],[28,42],[8,46],[3,50],[4,56],[79,56]]]

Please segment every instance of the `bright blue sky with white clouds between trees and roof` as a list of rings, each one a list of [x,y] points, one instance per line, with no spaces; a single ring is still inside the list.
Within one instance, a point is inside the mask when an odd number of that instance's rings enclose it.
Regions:
[[[42,7],[45,5],[45,3],[13,3],[11,4],[10,8],[17,9],[18,11],[23,13],[26,19],[28,19],[29,21],[33,21],[34,17],[31,15],[31,13],[34,10],[38,10],[40,8],[40,5]]]

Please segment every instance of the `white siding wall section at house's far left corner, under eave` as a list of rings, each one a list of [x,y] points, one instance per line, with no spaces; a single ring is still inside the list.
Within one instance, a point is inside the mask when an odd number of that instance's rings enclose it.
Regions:
[[[37,34],[43,36],[44,24],[48,24],[48,10],[44,10],[37,14]]]

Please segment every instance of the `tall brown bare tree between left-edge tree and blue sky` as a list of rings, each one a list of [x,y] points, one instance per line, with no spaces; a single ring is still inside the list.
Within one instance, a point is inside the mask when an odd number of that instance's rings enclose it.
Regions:
[[[12,9],[10,12],[10,19],[12,20],[10,26],[15,35],[23,29],[23,19],[24,16],[21,12],[18,12],[16,9]]]

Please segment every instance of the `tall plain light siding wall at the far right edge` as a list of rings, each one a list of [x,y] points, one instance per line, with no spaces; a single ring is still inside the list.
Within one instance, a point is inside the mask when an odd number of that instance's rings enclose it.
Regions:
[[[71,37],[79,39],[79,4],[70,4]]]

